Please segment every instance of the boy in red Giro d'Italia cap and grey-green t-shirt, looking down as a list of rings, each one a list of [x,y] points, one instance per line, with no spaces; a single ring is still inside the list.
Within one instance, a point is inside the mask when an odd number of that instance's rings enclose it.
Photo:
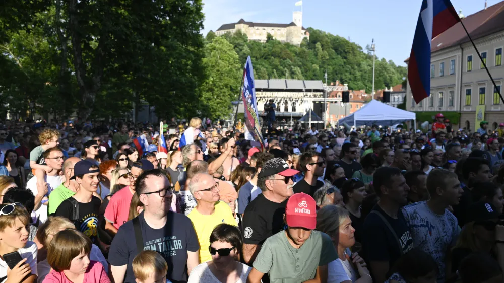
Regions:
[[[305,193],[289,198],[283,215],[288,227],[264,242],[247,282],[259,283],[266,273],[270,282],[327,280],[327,264],[338,254],[331,238],[314,230],[316,208],[315,200]]]

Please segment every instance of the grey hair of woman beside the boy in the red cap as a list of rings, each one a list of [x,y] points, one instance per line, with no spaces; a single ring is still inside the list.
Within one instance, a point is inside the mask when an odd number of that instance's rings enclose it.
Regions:
[[[339,235],[340,226],[349,217],[348,210],[338,205],[326,205],[317,211],[316,230],[326,233],[335,239]]]

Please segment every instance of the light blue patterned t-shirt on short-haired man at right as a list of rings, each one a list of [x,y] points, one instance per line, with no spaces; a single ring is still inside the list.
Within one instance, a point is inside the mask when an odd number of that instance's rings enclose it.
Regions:
[[[446,251],[455,246],[460,234],[457,218],[448,209],[442,215],[433,213],[426,201],[405,206],[402,212],[413,237],[413,246],[432,256],[439,268],[437,282],[445,282]]]

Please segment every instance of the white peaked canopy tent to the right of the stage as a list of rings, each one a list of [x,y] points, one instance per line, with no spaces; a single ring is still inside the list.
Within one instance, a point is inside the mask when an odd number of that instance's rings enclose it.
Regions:
[[[416,114],[384,104],[380,101],[371,100],[361,109],[338,121],[338,124],[346,123],[356,126],[392,126],[404,121],[414,120],[416,130]]]

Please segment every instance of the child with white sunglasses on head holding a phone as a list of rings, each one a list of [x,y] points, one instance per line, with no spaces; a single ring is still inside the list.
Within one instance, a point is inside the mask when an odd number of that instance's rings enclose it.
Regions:
[[[22,258],[9,274],[7,263],[0,258],[1,281],[20,283],[37,279],[37,245],[28,241],[29,223],[30,215],[20,203],[0,205],[0,254],[18,252]]]

